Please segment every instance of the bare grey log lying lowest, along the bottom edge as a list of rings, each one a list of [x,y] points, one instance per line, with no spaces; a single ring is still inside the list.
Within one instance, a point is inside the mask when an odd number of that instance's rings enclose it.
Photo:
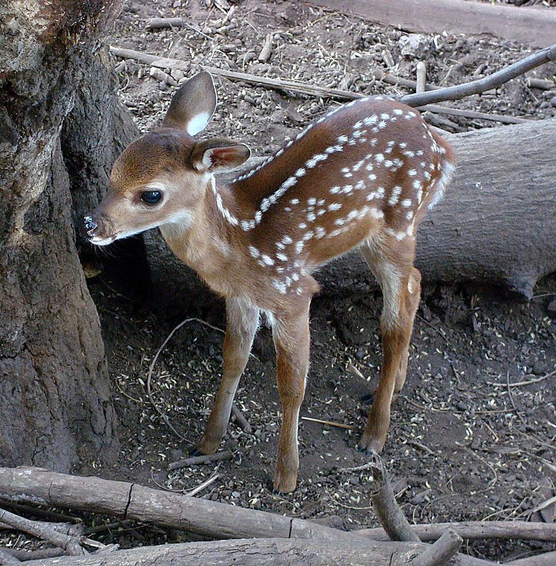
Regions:
[[[60,557],[25,562],[28,566],[412,566],[413,558],[426,550],[423,543],[376,543],[372,541],[288,541],[280,538],[212,541],[143,546],[116,550],[106,555]],[[458,554],[450,566],[494,566],[494,562]]]

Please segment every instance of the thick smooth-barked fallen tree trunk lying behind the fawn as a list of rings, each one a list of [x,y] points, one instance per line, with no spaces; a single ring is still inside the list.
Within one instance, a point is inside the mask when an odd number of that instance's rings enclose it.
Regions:
[[[530,299],[538,279],[556,271],[555,131],[552,119],[446,134],[456,173],[419,228],[416,265],[425,283],[496,284]],[[146,242],[157,297],[194,308],[198,279],[158,233]],[[358,253],[331,262],[317,279],[326,294],[376,285]]]

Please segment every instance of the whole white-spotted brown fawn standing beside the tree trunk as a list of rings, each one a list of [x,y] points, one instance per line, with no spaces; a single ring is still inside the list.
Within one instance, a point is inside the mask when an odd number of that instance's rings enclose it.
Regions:
[[[405,381],[421,294],[415,233],[442,196],[454,155],[418,112],[375,96],[334,108],[224,184],[215,173],[237,168],[251,152],[229,139],[194,138],[216,103],[208,72],[184,83],[161,126],[115,161],[110,189],[85,217],[85,230],[104,246],[159,227],[176,256],[225,297],[222,381],[197,444],[200,454],[220,446],[260,313],[266,313],[283,408],[274,489],[291,492],[309,366],[309,308],[319,289],[311,273],[359,247],[382,287],[380,383],[358,443],[361,451],[380,451],[392,395]]]

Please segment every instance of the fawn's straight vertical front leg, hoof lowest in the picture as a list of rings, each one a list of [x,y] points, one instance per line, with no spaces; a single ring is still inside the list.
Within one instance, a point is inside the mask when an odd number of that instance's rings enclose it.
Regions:
[[[309,369],[309,306],[310,301],[295,313],[277,317],[273,324],[276,381],[282,403],[282,426],[274,474],[274,490],[277,492],[292,492],[297,484],[297,422]]]

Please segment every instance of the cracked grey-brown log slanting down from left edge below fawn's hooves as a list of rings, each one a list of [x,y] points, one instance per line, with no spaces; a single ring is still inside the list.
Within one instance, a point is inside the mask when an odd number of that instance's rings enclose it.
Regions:
[[[42,468],[0,468],[0,498],[101,513],[181,529],[208,538],[351,539],[338,529],[291,517]]]

